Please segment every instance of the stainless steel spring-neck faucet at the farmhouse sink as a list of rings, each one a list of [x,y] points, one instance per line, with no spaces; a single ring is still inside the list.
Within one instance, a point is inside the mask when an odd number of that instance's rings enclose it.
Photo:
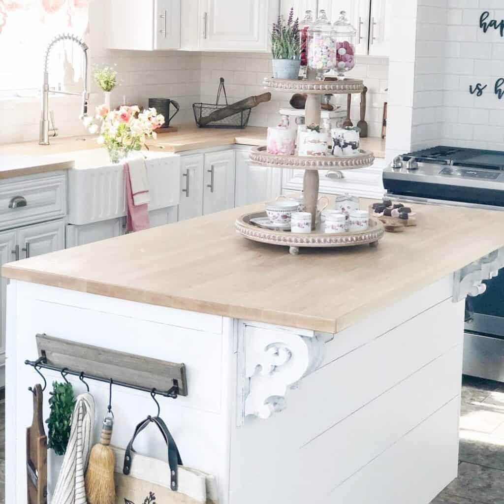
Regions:
[[[69,91],[55,91],[53,89],[49,89],[49,73],[47,70],[49,64],[49,54],[53,45],[60,40],[72,40],[79,45],[84,52],[84,90],[82,93],[71,93]],[[44,82],[42,84],[41,93],[42,111],[40,116],[40,136],[38,141],[40,145],[49,145],[49,137],[55,137],[58,134],[57,128],[54,126],[54,116],[52,112],[50,114],[52,128],[49,128],[49,93],[82,96],[82,113],[79,117],[82,119],[88,115],[88,49],[89,47],[79,37],[71,35],[70,33],[61,33],[60,35],[56,35],[47,46],[44,55]]]

